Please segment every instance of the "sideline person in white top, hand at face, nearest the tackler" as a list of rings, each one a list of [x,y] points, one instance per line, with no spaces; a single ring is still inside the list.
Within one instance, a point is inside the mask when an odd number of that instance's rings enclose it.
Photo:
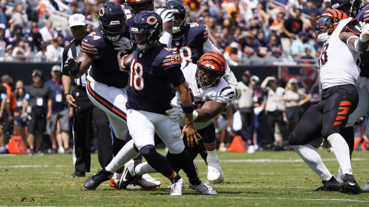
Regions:
[[[269,85],[269,86],[268,86]],[[267,113],[268,128],[274,136],[275,123],[278,124],[282,139],[285,139],[285,105],[283,101],[284,88],[278,87],[275,77],[267,77],[261,83],[261,89],[267,95],[265,103],[265,113]],[[275,140],[277,145],[281,145],[283,140]]]

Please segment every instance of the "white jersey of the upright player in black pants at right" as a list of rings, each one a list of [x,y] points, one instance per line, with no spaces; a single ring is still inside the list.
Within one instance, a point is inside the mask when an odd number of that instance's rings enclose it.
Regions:
[[[351,19],[351,17],[342,19],[321,49],[319,67],[322,89],[350,83],[356,85],[356,79],[360,74],[357,65],[360,53],[348,48],[339,38],[342,29]]]

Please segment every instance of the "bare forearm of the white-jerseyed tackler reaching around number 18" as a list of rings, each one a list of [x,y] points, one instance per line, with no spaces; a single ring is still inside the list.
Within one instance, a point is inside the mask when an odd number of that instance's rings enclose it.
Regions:
[[[222,104],[217,101],[207,101],[201,108],[196,109],[197,118],[195,122],[207,122],[208,120],[218,116],[218,114],[226,107],[226,104]]]

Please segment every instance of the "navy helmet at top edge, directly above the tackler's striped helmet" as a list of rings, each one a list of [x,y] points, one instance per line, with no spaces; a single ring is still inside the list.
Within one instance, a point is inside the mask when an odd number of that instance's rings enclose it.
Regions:
[[[179,1],[170,0],[166,4],[166,9],[173,12],[173,34],[183,31],[186,26],[187,10]]]

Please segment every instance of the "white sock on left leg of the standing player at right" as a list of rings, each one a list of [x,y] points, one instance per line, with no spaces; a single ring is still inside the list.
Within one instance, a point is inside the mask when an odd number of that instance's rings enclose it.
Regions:
[[[307,145],[292,145],[291,146],[297,154],[300,155],[302,160],[316,173],[322,180],[329,180],[332,177],[330,171],[325,167],[323,160],[321,159],[318,151],[311,146]]]

